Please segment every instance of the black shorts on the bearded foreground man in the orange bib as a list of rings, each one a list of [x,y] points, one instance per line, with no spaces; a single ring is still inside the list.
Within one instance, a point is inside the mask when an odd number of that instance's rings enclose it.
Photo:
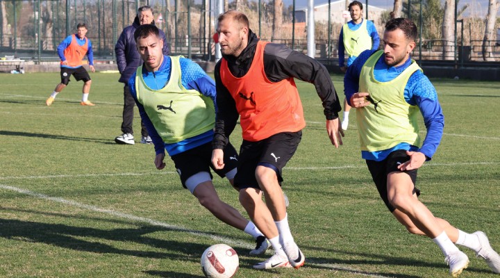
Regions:
[[[281,185],[281,170],[294,155],[302,138],[302,131],[283,132],[257,142],[243,140],[240,147],[238,172],[235,186],[238,188],[260,188],[256,179],[257,166],[262,165],[276,171]]]

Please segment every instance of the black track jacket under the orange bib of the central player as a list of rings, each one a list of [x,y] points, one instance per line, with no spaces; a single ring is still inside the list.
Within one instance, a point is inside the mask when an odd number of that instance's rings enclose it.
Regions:
[[[249,31],[249,43],[240,56],[224,56],[227,60],[231,74],[242,77],[250,70],[253,56],[258,42],[257,35]],[[220,77],[221,61],[215,65],[215,85],[217,89],[217,117],[215,122],[215,135],[213,149],[223,149],[228,142],[228,137],[233,132],[238,121],[236,104]],[[264,68],[267,79],[279,82],[289,77],[313,83],[317,94],[323,102],[326,120],[338,118],[342,110],[337,92],[333,87],[330,74],[326,67],[317,60],[310,58],[298,51],[293,51],[284,44],[268,43],[264,49]]]

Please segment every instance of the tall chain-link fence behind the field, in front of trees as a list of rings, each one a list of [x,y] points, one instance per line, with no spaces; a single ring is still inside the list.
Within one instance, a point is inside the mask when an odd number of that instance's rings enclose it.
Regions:
[[[133,23],[140,6],[149,5],[154,10],[156,25],[167,35],[172,54],[181,54],[194,60],[212,60],[216,1],[218,0],[0,0],[0,57],[15,56],[35,63],[59,60],[56,52],[58,44],[67,35],[75,33],[76,24],[85,23],[88,26],[87,37],[92,41],[94,59],[113,61],[115,42],[122,29]],[[227,8],[236,8],[236,1],[228,2]],[[292,13],[291,6],[283,9],[283,24],[273,37],[273,1],[240,2],[244,2],[244,6],[238,8],[249,16],[251,29],[260,38],[288,44],[293,49],[306,53],[306,22],[295,18],[297,10]],[[330,12],[333,8],[325,6],[322,6],[325,11],[318,10],[318,13],[329,13],[331,16],[315,23],[317,58],[338,58],[338,33],[342,24],[347,21],[342,15],[343,5],[339,12]],[[381,12],[376,17],[375,14],[367,14],[369,19],[374,20],[379,35],[383,35],[383,24],[389,17],[388,12]],[[418,20],[415,19],[416,22]],[[444,49],[444,44],[439,40],[422,39],[422,44],[417,44],[414,57],[429,60],[481,60],[482,57],[478,54],[482,49],[479,51],[478,47],[482,44],[473,42],[470,37],[469,44],[465,45],[462,38],[463,35],[456,41],[458,47],[453,42],[452,49]],[[489,55],[500,60],[499,44],[492,41],[491,45]]]

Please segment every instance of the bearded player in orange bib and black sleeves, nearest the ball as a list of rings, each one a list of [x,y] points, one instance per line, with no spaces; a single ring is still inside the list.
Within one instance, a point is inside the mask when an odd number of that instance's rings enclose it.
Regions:
[[[306,126],[294,78],[315,85],[335,147],[342,145],[337,93],[322,64],[283,44],[260,41],[243,13],[228,10],[217,21],[222,59],[215,66],[219,111],[212,163],[216,169],[224,167],[228,138],[240,117],[243,142],[235,186],[240,188],[241,204],[275,252],[253,268],[300,268],[305,258],[290,232],[281,190],[281,170]]]

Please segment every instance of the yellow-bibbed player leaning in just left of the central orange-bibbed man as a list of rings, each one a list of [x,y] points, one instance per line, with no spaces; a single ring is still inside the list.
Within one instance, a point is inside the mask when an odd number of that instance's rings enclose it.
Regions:
[[[181,56],[164,56],[163,40],[151,24],[138,26],[134,39],[144,61],[128,81],[128,88],[149,136],[153,140],[158,170],[165,167],[165,149],[181,177],[184,188],[197,197],[216,218],[256,239],[250,254],[263,254],[266,238],[232,206],[222,202],[210,174],[215,124],[215,83],[201,67]],[[238,154],[226,146],[226,167],[215,172],[231,185]]]

